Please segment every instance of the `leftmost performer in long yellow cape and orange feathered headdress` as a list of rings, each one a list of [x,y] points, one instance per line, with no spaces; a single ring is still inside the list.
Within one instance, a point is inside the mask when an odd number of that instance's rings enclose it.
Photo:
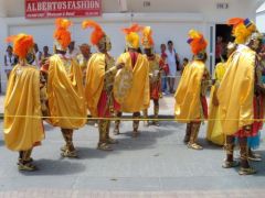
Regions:
[[[42,124],[40,72],[25,57],[33,47],[31,35],[8,37],[14,43],[19,64],[12,69],[4,99],[4,142],[9,150],[19,152],[19,170],[35,170],[32,148],[44,139]]]

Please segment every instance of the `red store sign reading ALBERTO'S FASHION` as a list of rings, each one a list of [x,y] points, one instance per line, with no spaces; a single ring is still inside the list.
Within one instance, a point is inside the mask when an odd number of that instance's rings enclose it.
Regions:
[[[82,18],[102,15],[102,0],[25,0],[25,18]]]

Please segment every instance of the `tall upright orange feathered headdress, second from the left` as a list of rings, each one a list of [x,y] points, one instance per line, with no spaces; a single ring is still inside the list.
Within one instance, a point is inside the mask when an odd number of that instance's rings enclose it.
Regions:
[[[72,22],[68,21],[67,19],[62,19],[59,18],[55,20],[55,28],[56,30],[54,31],[54,38],[56,40],[57,44],[60,46],[57,50],[65,51],[70,43],[71,43],[71,33],[68,31],[68,28],[72,25]]]

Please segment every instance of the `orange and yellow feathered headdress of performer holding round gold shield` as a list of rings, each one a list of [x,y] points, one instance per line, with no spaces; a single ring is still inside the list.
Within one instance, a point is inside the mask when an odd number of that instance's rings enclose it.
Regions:
[[[138,48],[139,47],[139,35],[137,34],[141,31],[142,28],[138,24],[132,24],[128,29],[123,29],[123,32],[126,34],[126,46],[129,48]]]

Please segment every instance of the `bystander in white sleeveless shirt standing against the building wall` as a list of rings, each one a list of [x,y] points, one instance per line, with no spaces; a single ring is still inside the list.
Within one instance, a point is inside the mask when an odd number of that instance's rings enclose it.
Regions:
[[[177,77],[177,70],[180,70],[179,67],[179,56],[173,48],[173,42],[168,41],[168,65],[169,65],[169,75],[168,75],[168,85],[169,85],[169,92],[174,92],[174,81]]]

